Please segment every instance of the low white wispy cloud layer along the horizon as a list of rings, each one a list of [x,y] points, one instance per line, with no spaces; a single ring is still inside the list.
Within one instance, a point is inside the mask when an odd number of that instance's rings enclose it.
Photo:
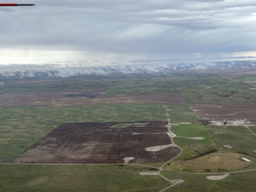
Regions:
[[[82,65],[0,65],[0,76],[5,77],[72,77],[82,75],[154,74],[177,70],[206,70],[228,68],[256,68],[256,61],[225,61],[195,63],[162,63],[148,65],[127,65],[109,67],[85,67]]]

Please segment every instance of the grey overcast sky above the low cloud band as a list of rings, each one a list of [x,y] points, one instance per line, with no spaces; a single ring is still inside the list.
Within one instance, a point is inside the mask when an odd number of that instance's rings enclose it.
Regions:
[[[0,64],[256,56],[255,0],[15,3],[36,5],[0,7]]]

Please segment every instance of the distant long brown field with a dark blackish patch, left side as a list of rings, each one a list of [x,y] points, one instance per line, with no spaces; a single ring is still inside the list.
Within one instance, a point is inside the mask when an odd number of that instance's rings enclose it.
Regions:
[[[0,93],[0,107],[185,103],[180,92],[103,95],[107,89]]]

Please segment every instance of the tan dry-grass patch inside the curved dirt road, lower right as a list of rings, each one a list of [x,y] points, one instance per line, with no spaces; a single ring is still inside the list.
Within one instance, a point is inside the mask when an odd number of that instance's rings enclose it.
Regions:
[[[250,162],[242,161],[240,156],[241,154],[235,153],[212,153],[187,161],[181,159],[169,165],[168,168],[182,170],[186,167],[193,171],[205,171],[206,169],[217,171],[218,168],[234,170],[251,165]]]

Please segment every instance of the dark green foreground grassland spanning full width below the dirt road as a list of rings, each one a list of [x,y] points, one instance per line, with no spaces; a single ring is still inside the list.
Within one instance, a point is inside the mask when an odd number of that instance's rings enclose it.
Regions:
[[[168,182],[158,176],[143,176],[147,168],[125,165],[2,165],[1,191],[159,191]],[[230,174],[223,180],[208,180],[208,174],[161,172],[164,177],[185,182],[166,191],[254,191],[256,171]],[[159,187],[162,186],[162,187]],[[158,187],[155,189],[150,189]],[[142,189],[142,190],[140,190]],[[145,190],[143,190],[145,189]]]

